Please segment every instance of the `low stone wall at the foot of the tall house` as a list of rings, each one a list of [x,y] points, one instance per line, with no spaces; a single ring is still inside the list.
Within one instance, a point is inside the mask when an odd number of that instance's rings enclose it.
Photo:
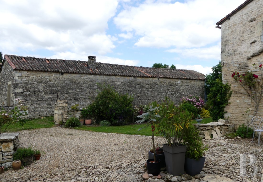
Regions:
[[[211,140],[211,137],[217,138],[235,132],[235,126],[229,124],[228,120],[218,121],[207,124],[194,124],[194,126],[198,128],[200,137],[206,140]]]

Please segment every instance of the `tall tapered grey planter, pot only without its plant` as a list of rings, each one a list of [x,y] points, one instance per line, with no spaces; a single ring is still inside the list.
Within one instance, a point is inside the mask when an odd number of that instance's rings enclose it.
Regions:
[[[184,161],[186,145],[181,145],[177,147],[169,147],[163,144],[166,171],[173,176],[179,176],[184,174]]]

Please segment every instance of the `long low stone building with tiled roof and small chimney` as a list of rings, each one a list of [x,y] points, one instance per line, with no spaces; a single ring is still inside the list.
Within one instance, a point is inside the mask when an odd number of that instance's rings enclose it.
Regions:
[[[120,93],[134,96],[135,106],[162,101],[165,96],[179,103],[183,96],[204,97],[205,76],[193,70],[124,66],[88,61],[57,60],[5,55],[0,68],[0,102],[28,106],[29,118],[50,116],[56,100],[69,105],[89,105],[109,84]]]

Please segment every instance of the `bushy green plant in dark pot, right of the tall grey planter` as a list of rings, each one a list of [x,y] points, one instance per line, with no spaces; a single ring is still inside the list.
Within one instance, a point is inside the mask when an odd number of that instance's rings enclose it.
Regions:
[[[185,172],[191,176],[200,174],[205,163],[204,153],[208,148],[204,146],[195,126],[189,127],[184,136],[184,144],[186,145]]]

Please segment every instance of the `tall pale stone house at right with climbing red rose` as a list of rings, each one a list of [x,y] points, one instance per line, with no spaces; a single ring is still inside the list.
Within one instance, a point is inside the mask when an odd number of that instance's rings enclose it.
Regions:
[[[258,67],[263,63],[262,8],[263,0],[247,0],[216,23],[216,28],[221,29],[222,80],[230,83],[233,91],[229,100],[231,104],[225,108],[225,117],[237,126],[247,122],[248,108],[248,120],[251,122],[255,103],[231,76],[236,71],[240,74],[252,71],[263,76]],[[262,103],[257,115],[263,116]]]

